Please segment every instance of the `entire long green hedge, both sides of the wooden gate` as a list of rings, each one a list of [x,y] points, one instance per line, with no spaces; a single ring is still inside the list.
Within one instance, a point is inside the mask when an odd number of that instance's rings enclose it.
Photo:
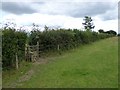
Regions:
[[[39,42],[40,51],[64,51],[75,48],[81,44],[88,44],[99,39],[114,36],[108,33],[81,31],[78,29],[50,30],[47,26],[43,32],[33,29],[27,37],[25,31],[16,31],[11,28],[2,30],[2,63],[3,68],[15,67],[17,53],[19,63],[25,59],[25,44],[36,45]],[[27,42],[26,42],[27,41]]]

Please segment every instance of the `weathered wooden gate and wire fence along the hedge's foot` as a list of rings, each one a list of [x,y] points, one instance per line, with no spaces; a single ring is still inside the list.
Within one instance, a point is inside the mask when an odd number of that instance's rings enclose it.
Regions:
[[[54,52],[58,52],[61,53],[61,51],[64,50],[68,50],[68,49],[72,49],[77,47],[77,45],[75,46],[71,46],[69,44],[57,44],[57,45],[53,45],[53,44],[49,44],[49,45],[43,45],[37,43],[37,45],[27,45],[25,47],[25,60],[26,61],[32,61],[35,62],[37,59],[39,59],[41,57],[41,55],[43,53],[49,52],[49,51],[54,51]]]

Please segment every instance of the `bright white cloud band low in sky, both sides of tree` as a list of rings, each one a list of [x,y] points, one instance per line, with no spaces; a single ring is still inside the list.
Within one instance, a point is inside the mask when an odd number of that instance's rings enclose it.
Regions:
[[[83,18],[73,18],[63,15],[47,15],[47,14],[31,14],[27,15],[24,14],[22,16],[17,15],[7,15],[3,18],[3,20],[12,18],[14,22],[17,23],[17,25],[32,25],[32,23],[38,24],[40,26],[61,26],[62,28],[77,28],[81,29],[83,28],[82,22]],[[118,32],[118,21],[117,20],[108,20],[108,21],[102,21],[99,16],[92,17],[93,22],[95,24],[95,31],[98,31],[99,29],[107,30],[115,30]],[[42,28],[41,27],[41,28]],[[30,30],[30,29],[29,29]]]

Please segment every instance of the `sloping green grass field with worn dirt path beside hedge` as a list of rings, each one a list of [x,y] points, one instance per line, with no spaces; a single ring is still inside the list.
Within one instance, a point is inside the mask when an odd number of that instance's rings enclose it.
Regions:
[[[3,87],[117,88],[118,39],[108,38],[3,72]],[[23,70],[23,71],[22,71]]]

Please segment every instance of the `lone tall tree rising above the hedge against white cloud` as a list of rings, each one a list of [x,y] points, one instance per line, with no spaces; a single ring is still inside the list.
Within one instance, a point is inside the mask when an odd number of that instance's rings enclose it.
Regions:
[[[85,28],[86,30],[94,29],[95,26],[94,26],[93,23],[92,23],[93,20],[92,20],[91,17],[85,16],[83,20],[84,20],[85,22],[82,23],[82,24],[84,25],[84,28]]]

